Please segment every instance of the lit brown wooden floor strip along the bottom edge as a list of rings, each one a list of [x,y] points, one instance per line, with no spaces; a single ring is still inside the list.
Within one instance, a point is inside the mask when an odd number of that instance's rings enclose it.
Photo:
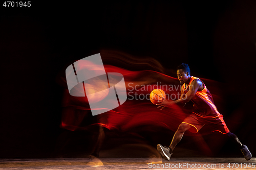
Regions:
[[[155,159],[155,160],[154,160]],[[101,158],[90,159],[1,159],[1,169],[256,169],[256,159],[244,158]],[[150,163],[150,161],[155,163]],[[161,162],[162,161],[162,162]]]

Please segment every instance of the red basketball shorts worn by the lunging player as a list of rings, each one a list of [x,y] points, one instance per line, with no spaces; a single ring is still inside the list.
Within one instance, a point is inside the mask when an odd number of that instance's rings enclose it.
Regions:
[[[215,118],[204,118],[196,115],[195,113],[191,113],[183,120],[182,123],[190,125],[192,128],[190,128],[189,131],[193,133],[197,133],[204,125],[209,126],[210,129],[212,129],[211,132],[219,131],[223,134],[229,132],[222,114]]]

